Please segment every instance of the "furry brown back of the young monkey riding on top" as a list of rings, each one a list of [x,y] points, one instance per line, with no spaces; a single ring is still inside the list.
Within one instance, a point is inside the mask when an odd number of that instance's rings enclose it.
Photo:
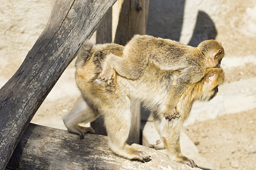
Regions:
[[[180,42],[153,37],[149,35],[135,35],[125,50],[133,56],[144,56],[163,70],[183,70],[191,65],[203,66],[203,53],[195,47]]]

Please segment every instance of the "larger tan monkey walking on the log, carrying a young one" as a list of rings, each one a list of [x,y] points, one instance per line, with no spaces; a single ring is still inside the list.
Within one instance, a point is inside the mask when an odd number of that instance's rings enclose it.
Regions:
[[[115,70],[108,82],[98,80],[104,67],[104,59],[110,53],[122,57],[124,49],[124,46],[118,44],[93,46],[88,41],[84,42],[75,63],[75,79],[81,97],[71,112],[63,117],[64,125],[70,133],[80,135],[82,139],[85,133],[94,131],[92,128],[81,128],[79,124],[93,121],[102,115],[108,133],[109,148],[123,158],[148,162],[151,160],[150,155],[126,143],[131,126],[130,100],[135,99],[154,113],[155,126],[169,158],[196,167],[193,160],[181,154],[180,129],[188,118],[194,101],[208,101],[216,96],[218,86],[224,82],[224,71],[221,68],[207,69],[199,82],[189,84],[176,106],[180,117],[169,121],[162,111],[166,108],[172,83],[179,78],[182,71],[162,70],[148,62],[138,80],[124,78],[115,74]]]

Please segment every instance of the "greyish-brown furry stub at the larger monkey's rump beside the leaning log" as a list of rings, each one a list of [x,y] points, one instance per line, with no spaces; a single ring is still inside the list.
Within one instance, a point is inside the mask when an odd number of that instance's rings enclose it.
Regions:
[[[85,65],[85,63],[92,57],[93,43],[90,40],[85,40],[77,55],[75,67],[76,69]]]

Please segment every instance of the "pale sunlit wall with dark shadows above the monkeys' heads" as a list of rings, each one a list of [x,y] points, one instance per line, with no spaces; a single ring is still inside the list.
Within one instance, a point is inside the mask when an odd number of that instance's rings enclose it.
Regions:
[[[147,34],[196,46],[206,39],[222,42],[227,56],[254,54],[254,0],[150,0]]]

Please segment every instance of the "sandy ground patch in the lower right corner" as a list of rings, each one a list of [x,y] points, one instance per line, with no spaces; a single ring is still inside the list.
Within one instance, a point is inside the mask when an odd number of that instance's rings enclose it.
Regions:
[[[256,109],[187,126],[185,133],[214,169],[256,169]]]

